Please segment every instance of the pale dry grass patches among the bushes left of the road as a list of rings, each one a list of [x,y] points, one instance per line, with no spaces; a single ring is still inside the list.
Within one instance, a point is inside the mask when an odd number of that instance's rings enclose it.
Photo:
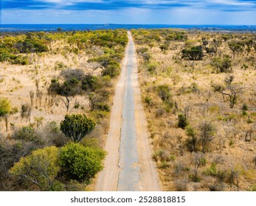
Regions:
[[[66,51],[67,45],[63,41],[58,41],[53,45],[53,54],[50,52],[44,54],[35,54],[35,64],[33,65],[10,65],[9,63],[0,63],[0,96],[4,96],[10,100],[12,107],[18,108],[18,113],[9,116],[9,129],[5,131],[4,121],[0,121],[1,135],[5,138],[10,136],[15,129],[25,125],[35,126],[36,119],[41,118],[44,127],[47,122],[55,121],[58,125],[66,115],[66,107],[59,97],[56,98],[55,103],[49,106],[49,96],[47,95],[47,88],[51,79],[57,78],[60,71],[65,68],[80,68],[86,74],[93,73],[97,75],[100,69],[92,71],[93,65],[87,63],[91,54],[85,52],[77,54]],[[61,52],[60,52],[61,51]],[[28,54],[32,59],[32,54]],[[38,89],[42,91],[43,97],[41,106],[36,102],[36,86],[35,82],[39,82]],[[30,120],[21,118],[21,105],[31,104],[30,91],[34,92],[32,113]],[[75,108],[75,105],[79,105]],[[87,96],[75,96],[71,98],[70,109],[68,113],[88,113],[89,111],[89,98]],[[102,137],[101,145],[104,144],[106,129],[108,123],[103,121],[104,129],[97,131],[97,137]]]

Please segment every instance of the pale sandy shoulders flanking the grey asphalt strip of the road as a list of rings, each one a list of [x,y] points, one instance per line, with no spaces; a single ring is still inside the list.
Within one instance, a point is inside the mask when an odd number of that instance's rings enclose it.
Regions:
[[[118,163],[120,159],[120,136],[122,130],[122,109],[124,105],[123,96],[125,93],[125,83],[127,81],[128,55],[132,55],[134,71],[132,75],[132,87],[134,90],[134,121],[136,124],[136,151],[139,156],[139,182],[140,191],[160,191],[159,179],[156,173],[156,166],[151,158],[151,149],[148,141],[147,121],[140,97],[140,89],[137,75],[136,54],[134,41],[131,32],[128,32],[130,47],[126,48],[125,59],[122,63],[122,72],[117,83],[114,104],[111,110],[111,124],[105,150],[108,155],[105,158],[105,168],[97,177],[95,191],[117,191],[119,174],[121,168]],[[132,53],[131,53],[132,52]]]

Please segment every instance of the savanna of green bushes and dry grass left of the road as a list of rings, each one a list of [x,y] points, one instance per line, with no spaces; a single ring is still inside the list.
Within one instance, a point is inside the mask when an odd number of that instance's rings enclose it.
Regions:
[[[0,34],[0,191],[91,190],[125,30]]]

